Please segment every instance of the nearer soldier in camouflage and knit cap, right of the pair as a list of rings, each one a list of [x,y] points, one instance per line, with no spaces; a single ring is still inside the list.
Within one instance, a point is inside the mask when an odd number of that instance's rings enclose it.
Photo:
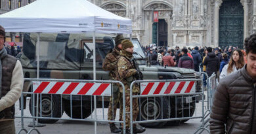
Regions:
[[[131,58],[133,58],[133,43],[129,40],[124,40],[121,42],[122,44],[122,50],[120,52],[120,56],[117,59],[117,75],[119,76],[119,80],[124,84],[125,86],[125,112],[128,113],[130,111],[130,86],[131,82],[137,78],[139,75],[139,71],[135,69],[133,66],[133,62],[131,62]],[[123,93],[123,90],[119,90],[120,94]],[[133,86],[133,95],[138,95],[140,93],[139,86],[135,85]],[[120,95],[122,97],[122,95]],[[122,100],[122,99],[121,99]],[[122,101],[120,101],[121,103]],[[120,104],[120,106],[122,106]],[[121,107],[120,107],[121,109]],[[139,104],[138,99],[133,99],[133,121],[136,120],[137,116],[139,114]],[[123,120],[123,118],[122,118]],[[133,133],[143,133],[146,129],[145,128],[139,128],[134,124],[133,127]],[[121,133],[123,133],[123,126]],[[130,115],[125,114],[125,129],[126,133],[131,133],[130,131]]]

